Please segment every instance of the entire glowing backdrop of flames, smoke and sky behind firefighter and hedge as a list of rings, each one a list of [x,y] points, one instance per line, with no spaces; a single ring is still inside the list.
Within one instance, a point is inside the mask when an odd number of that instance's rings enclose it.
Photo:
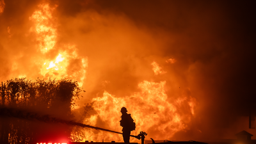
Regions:
[[[254,8],[250,1],[1,0],[0,80],[74,79],[86,90],[76,108],[93,107],[84,124],[121,132],[125,106],[132,134],[148,139],[255,135],[248,127]],[[79,131],[83,140],[122,141]]]

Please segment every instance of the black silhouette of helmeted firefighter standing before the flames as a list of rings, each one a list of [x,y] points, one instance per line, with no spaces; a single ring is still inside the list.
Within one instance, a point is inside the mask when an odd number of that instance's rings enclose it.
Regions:
[[[122,131],[124,142],[129,143],[131,131],[134,131],[136,126],[135,123],[133,122],[131,114],[127,114],[127,109],[125,107],[121,109],[121,113],[122,120],[120,120],[120,125],[123,127]]]

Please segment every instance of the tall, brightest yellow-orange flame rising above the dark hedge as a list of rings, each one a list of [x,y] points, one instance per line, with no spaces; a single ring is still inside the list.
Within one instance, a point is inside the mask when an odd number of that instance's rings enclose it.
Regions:
[[[86,77],[88,60],[78,56],[76,45],[63,45],[62,51],[56,53],[54,59],[47,58],[51,50],[56,47],[56,38],[58,36],[56,28],[54,28],[56,25],[54,19],[56,17],[52,17],[52,12],[56,7],[57,5],[51,8],[47,3],[39,4],[38,10],[29,17],[29,20],[35,22],[35,27],[32,27],[30,31],[36,33],[36,40],[39,43],[37,45],[38,49],[45,57],[40,74],[45,79],[48,79],[48,77],[74,79],[79,83],[79,86],[82,86]]]

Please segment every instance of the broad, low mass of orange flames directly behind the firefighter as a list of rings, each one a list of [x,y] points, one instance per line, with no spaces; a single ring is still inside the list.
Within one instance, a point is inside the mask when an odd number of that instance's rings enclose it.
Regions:
[[[148,138],[156,140],[172,138],[175,132],[186,130],[188,127],[191,116],[194,115],[196,101],[191,97],[179,97],[175,100],[175,104],[168,102],[164,90],[165,83],[165,81],[160,83],[143,81],[138,84],[141,92],[129,97],[115,97],[105,91],[103,97],[92,100],[93,109],[97,114],[90,117],[89,124],[121,132],[120,109],[125,106],[136,123],[136,131],[132,134],[136,135],[140,131],[145,131],[148,132]],[[180,115],[177,108],[182,104],[188,105],[190,109]],[[96,134],[95,131],[86,130],[85,140],[100,141],[102,139],[122,141],[122,136],[111,133]],[[136,140],[131,139],[131,141]]]

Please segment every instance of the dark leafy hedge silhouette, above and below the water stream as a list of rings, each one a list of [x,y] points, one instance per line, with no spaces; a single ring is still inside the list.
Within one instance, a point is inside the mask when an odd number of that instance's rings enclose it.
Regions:
[[[49,79],[44,81],[36,79],[31,81],[26,78],[10,79],[2,82],[1,104],[3,108],[30,109],[38,113],[49,114],[57,118],[70,120],[74,99],[79,99],[81,89],[77,82],[69,79]],[[10,112],[10,111],[9,111]],[[20,111],[13,111],[15,116],[0,116],[0,141],[1,143],[35,143],[38,141],[66,139],[70,137],[72,127],[61,124],[47,124],[35,120],[27,120]],[[27,113],[26,116],[36,114]],[[25,117],[26,117],[25,116]],[[49,118],[47,116],[45,119]],[[71,134],[72,135],[72,134]],[[74,138],[77,140],[77,138]]]

